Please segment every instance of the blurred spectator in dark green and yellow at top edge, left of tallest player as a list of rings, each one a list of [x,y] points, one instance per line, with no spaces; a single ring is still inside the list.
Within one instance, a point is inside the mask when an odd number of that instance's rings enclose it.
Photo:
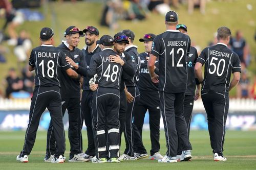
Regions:
[[[148,17],[148,9],[140,0],[123,1],[124,9],[126,10],[126,20],[142,20]]]

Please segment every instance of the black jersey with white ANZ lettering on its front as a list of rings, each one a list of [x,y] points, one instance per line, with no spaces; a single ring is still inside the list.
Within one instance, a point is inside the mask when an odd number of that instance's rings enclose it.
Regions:
[[[150,77],[150,72],[147,69],[146,57],[150,55],[146,52],[140,53],[140,75],[138,81],[138,87],[140,90],[158,91],[158,83],[153,83]],[[158,61],[156,61],[158,62]]]

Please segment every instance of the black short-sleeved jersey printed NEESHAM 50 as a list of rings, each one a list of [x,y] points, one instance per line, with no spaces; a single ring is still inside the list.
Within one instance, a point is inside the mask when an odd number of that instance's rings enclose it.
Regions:
[[[231,72],[241,72],[238,55],[223,43],[204,48],[197,62],[205,64],[202,94],[228,93]]]

